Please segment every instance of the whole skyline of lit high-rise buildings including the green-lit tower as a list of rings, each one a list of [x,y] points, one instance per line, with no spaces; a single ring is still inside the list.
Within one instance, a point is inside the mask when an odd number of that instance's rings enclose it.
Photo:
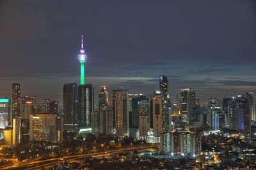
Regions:
[[[40,106],[36,97],[20,97],[20,84],[13,83],[12,99],[0,99],[1,138],[8,145],[29,140],[59,143],[65,134],[104,134],[125,136],[161,143],[161,153],[195,157],[202,150],[202,133],[191,129],[223,127],[250,134],[255,121],[255,94],[248,92],[223,101],[211,98],[200,104],[193,89],[180,89],[175,100],[168,94],[166,76],[159,77],[159,89],[152,94],[131,94],[125,89],[100,87],[97,106],[94,87],[84,81],[86,53],[77,56],[81,82],[63,86],[63,113],[58,102],[45,99]],[[111,100],[109,100],[109,98]]]

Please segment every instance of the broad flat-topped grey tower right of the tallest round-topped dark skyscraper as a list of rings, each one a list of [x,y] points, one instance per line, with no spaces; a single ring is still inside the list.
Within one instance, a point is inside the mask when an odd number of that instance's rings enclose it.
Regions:
[[[193,123],[193,107],[196,106],[195,91],[193,89],[180,89],[180,113],[182,122]]]

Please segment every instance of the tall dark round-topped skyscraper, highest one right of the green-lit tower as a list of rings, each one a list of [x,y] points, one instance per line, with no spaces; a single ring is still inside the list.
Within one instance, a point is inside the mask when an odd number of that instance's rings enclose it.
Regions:
[[[166,76],[159,77],[159,91],[162,97],[162,122],[163,132],[169,132],[171,127],[171,116],[169,114],[170,99],[168,94],[168,80]]]

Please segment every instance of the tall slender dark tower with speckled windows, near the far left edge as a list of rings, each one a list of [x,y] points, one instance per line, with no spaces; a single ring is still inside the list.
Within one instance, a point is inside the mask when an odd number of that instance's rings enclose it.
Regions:
[[[12,117],[20,117],[20,83],[12,84]]]

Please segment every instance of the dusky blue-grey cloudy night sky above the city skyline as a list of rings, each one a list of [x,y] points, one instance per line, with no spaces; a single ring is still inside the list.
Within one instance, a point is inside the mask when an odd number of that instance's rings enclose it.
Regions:
[[[63,85],[79,82],[82,32],[95,94],[150,94],[162,74],[172,99],[184,87],[201,101],[256,91],[256,1],[2,0],[0,98],[19,82],[37,104],[63,103]]]

